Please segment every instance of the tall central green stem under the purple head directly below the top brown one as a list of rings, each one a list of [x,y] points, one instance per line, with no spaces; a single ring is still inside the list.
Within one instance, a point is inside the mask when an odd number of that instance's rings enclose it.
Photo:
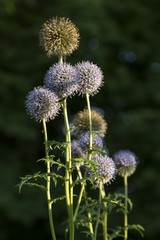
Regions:
[[[66,199],[67,199],[67,209],[68,216],[70,220],[70,240],[74,240],[74,221],[73,221],[73,185],[72,185],[72,161],[71,161],[71,135],[68,122],[67,114],[67,102],[66,99],[63,101],[63,112],[64,112],[64,122],[65,122],[65,132],[66,132],[66,142],[68,146],[66,147],[66,181],[65,181],[65,190],[66,190]]]

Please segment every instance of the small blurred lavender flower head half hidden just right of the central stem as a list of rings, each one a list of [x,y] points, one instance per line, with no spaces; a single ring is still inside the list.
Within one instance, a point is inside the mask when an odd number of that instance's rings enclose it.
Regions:
[[[72,141],[71,153],[72,153],[72,158],[84,158],[85,157],[85,154],[83,153],[83,151],[79,145],[79,141],[77,141],[77,140]],[[84,165],[84,162],[83,161],[77,162],[76,165],[78,165],[80,167],[80,166]]]

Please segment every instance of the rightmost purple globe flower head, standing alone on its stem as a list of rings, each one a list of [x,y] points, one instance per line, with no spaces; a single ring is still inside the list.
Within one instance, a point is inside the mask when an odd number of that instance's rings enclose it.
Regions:
[[[137,161],[134,153],[128,150],[122,150],[116,153],[113,159],[116,164],[117,174],[121,177],[129,177],[135,172]]]

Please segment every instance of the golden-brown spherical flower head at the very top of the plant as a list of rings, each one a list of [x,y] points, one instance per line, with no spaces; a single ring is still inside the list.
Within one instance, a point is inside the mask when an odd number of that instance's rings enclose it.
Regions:
[[[78,45],[78,28],[68,18],[51,18],[42,25],[40,46],[48,56],[70,55]]]

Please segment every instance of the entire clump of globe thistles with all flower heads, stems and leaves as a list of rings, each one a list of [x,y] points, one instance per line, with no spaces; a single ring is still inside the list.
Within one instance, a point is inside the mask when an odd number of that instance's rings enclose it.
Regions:
[[[62,199],[66,201],[68,214],[66,233],[69,240],[75,239],[76,225],[78,227],[82,225],[83,228],[87,227],[87,236],[89,235],[91,240],[97,240],[100,237],[97,237],[99,223],[103,224],[103,239],[107,240],[108,237],[112,237],[112,233],[110,236],[107,233],[107,214],[112,204],[117,205],[118,208],[122,206],[124,212],[124,228],[118,227],[118,233],[114,231],[116,235],[114,237],[122,236],[119,229],[124,229],[124,240],[128,240],[130,226],[127,219],[127,177],[132,175],[136,169],[136,156],[128,150],[120,151],[114,155],[113,161],[107,153],[102,154],[107,123],[100,113],[91,110],[90,96],[95,95],[103,85],[103,73],[96,64],[89,61],[83,61],[75,66],[64,62],[66,56],[78,48],[78,44],[78,29],[68,18],[51,18],[42,25],[40,45],[48,56],[56,55],[58,63],[53,64],[46,72],[44,86],[34,88],[28,93],[25,106],[28,114],[43,124],[45,157],[41,158],[40,161],[46,163],[46,173],[38,172],[26,175],[22,178],[19,189],[21,190],[23,185],[29,185],[45,190],[52,240],[57,239],[52,205]],[[73,125],[75,126],[76,140],[72,141],[67,98],[72,97],[75,93],[86,96],[87,108],[75,116]],[[65,126],[65,141],[63,142],[48,140],[46,124],[47,121],[58,115],[60,106],[63,108]],[[56,156],[53,155],[54,149],[62,152],[65,149],[65,163],[60,158],[56,159]],[[54,165],[56,172],[51,169]],[[85,166],[84,172],[81,172],[81,165]],[[76,177],[73,175],[74,169],[77,172]],[[114,198],[106,196],[105,193],[104,184],[111,183],[116,172],[124,178],[124,205],[121,205],[121,201],[117,201],[117,194]],[[46,180],[46,184],[41,181],[42,178]],[[98,200],[89,196],[90,191],[88,193],[88,188],[86,188],[88,180],[91,180],[94,186],[99,188]],[[64,194],[60,196],[58,194],[57,197],[55,196],[56,198],[52,196],[54,194],[54,191],[51,191],[52,183],[55,184],[55,188],[56,183],[63,183],[65,196]],[[79,194],[75,189],[77,185],[81,186]],[[82,205],[83,203],[85,206]],[[107,207],[107,204],[110,205]],[[80,207],[81,211],[79,212]],[[88,218],[86,218],[86,211]],[[133,225],[133,228],[139,230],[137,226]]]

